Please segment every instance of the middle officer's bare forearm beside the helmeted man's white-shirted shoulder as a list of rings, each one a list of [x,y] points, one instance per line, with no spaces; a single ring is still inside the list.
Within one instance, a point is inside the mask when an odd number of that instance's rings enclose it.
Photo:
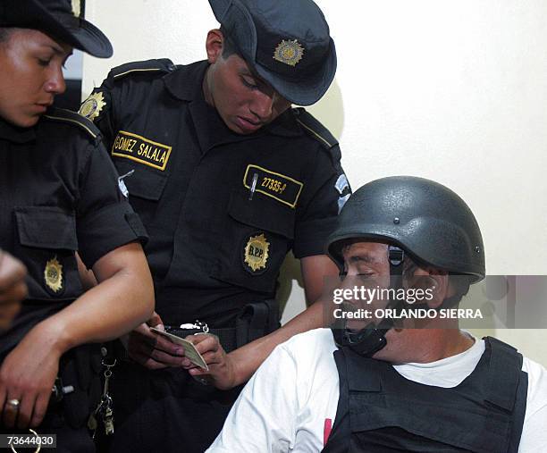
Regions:
[[[258,366],[265,361],[273,348],[289,340],[297,333],[317,329],[323,326],[323,304],[321,301],[307,307],[302,313],[284,324],[277,331],[258,340],[252,341],[241,348],[232,351],[228,356],[234,365],[233,385],[247,382],[257,371]]]

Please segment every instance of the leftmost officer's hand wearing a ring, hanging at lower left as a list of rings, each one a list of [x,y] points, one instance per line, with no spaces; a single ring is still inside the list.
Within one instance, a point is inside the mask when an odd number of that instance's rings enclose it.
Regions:
[[[34,428],[42,423],[62,352],[55,339],[34,327],[0,366],[0,417],[8,428]],[[19,400],[19,407],[8,404]]]

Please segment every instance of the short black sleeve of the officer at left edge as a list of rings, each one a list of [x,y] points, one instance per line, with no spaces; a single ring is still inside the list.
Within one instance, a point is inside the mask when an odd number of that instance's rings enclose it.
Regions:
[[[79,253],[90,268],[114,248],[147,240],[139,216],[122,194],[122,183],[102,145],[90,146],[80,176],[77,208]]]

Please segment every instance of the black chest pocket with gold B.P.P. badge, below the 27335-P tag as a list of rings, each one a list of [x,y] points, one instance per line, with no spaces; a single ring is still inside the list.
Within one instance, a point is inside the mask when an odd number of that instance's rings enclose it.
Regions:
[[[269,197],[236,189],[212,277],[254,291],[273,293],[292,247],[295,211]]]

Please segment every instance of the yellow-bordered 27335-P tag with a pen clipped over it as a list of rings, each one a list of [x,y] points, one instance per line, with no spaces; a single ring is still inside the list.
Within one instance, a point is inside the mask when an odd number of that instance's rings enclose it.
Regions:
[[[304,187],[304,184],[299,180],[294,180],[281,173],[270,172],[258,165],[247,166],[247,171],[243,177],[243,185],[251,193],[260,192],[293,209],[297,206],[300,192]]]

